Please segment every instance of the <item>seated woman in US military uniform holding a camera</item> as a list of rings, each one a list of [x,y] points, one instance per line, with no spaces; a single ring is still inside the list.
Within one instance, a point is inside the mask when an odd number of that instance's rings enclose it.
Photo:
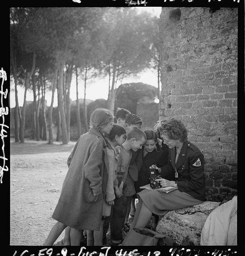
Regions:
[[[197,146],[188,141],[187,129],[182,122],[171,118],[161,122],[159,128],[164,144],[169,148],[168,164],[158,168],[161,177],[156,179],[162,187],[172,186],[168,193],[144,189],[137,194],[138,206],[131,228],[144,228],[152,213],[165,215],[200,204],[205,200],[204,156]],[[172,180],[169,177],[174,177]]]

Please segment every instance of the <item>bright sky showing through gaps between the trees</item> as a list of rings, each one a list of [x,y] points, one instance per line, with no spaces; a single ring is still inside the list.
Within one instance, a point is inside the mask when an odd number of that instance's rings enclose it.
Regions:
[[[141,10],[147,10],[149,12],[152,12],[156,16],[160,16],[161,13],[161,7],[132,7],[136,8],[139,11]],[[137,83],[142,82],[144,84],[150,84],[152,86],[157,87],[157,76],[156,74],[153,74],[152,71],[143,72],[141,74],[138,74],[138,76],[134,76],[132,78],[124,78],[122,83]],[[84,82],[83,80],[79,81],[79,95],[78,97],[83,99],[84,98]],[[121,82],[120,82],[121,84]],[[117,87],[120,85],[117,84]],[[11,84],[11,87],[14,88],[14,84]],[[21,88],[20,86],[17,88],[18,90],[18,100],[19,100],[19,106],[23,106],[24,102],[24,88]],[[96,100],[96,99],[105,99],[108,98],[108,91],[109,91],[109,79],[98,79],[96,81],[89,81],[87,80],[87,86],[86,86],[86,99],[89,100]],[[10,108],[15,107],[15,92],[14,90],[10,91]],[[71,90],[70,90],[70,98],[72,101],[76,100],[76,84],[75,84],[75,74],[73,74],[73,78],[71,80]],[[26,96],[27,101],[33,101],[33,92],[29,91],[27,92]],[[45,100],[47,100],[47,106],[50,106],[51,103],[51,92],[46,92],[45,94]],[[53,103],[53,106],[57,106],[57,91],[55,92],[55,101]]]

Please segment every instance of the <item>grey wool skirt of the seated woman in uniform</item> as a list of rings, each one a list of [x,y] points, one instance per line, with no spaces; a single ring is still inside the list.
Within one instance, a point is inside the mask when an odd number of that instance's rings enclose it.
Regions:
[[[137,193],[137,196],[142,199],[152,213],[160,216],[165,215],[170,210],[178,210],[203,202],[179,189],[168,193],[144,189]]]

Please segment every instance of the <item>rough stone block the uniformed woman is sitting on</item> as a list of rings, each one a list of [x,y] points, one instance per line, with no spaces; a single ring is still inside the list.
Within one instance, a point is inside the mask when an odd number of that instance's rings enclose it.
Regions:
[[[213,209],[219,206],[219,204],[220,202],[207,201],[180,210],[172,210],[158,222],[156,232],[159,234],[167,234],[173,239],[174,245],[177,246],[199,246],[202,228],[208,217],[207,214],[210,214]],[[195,211],[203,212],[179,214],[186,211],[189,211],[190,213]]]

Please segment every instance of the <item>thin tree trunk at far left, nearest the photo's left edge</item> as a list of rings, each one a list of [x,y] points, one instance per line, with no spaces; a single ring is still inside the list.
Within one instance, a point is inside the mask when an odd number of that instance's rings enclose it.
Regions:
[[[20,124],[20,108],[19,108],[19,101],[18,101],[18,90],[17,90],[17,68],[16,68],[16,56],[13,53],[12,47],[10,48],[10,55],[11,55],[11,64],[14,76],[14,93],[15,93],[15,107],[14,107],[14,138],[15,142],[20,141],[19,137],[19,124]]]

